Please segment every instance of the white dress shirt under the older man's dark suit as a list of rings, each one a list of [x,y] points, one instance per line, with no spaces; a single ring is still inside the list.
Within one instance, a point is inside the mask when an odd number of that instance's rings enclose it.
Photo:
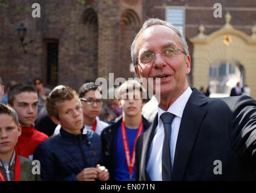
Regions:
[[[182,121],[182,114],[191,93],[192,90],[188,87],[188,89],[186,89],[185,92],[183,92],[167,110],[167,112],[176,115],[171,124],[171,166],[173,166],[174,162],[174,153],[176,150],[180,121]],[[163,138],[165,136],[163,122],[160,119],[162,113],[165,113],[165,111],[158,107],[158,124],[154,133],[153,141],[151,142],[148,164],[146,165],[146,171],[148,172],[150,179],[153,181],[162,181],[162,146]]]

